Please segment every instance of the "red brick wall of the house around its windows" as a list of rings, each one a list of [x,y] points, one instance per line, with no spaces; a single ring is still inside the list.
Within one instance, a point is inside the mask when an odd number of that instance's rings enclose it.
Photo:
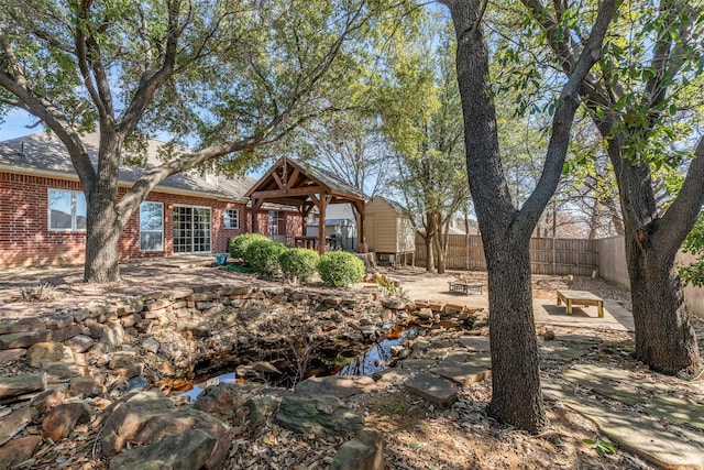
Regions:
[[[80,190],[78,182],[0,172],[0,267],[42,264],[80,264],[86,236],[82,231],[48,230],[48,189]],[[120,195],[127,189],[121,188]],[[120,258],[169,256],[173,253],[173,205],[211,208],[211,251],[227,252],[230,238],[250,230],[244,205],[195,196],[153,192],[148,201],[164,204],[164,251],[140,251],[139,210],[128,221],[120,239]],[[226,229],[224,209],[240,210],[240,228]],[[300,232],[300,219],[285,212],[287,230]],[[268,216],[262,212],[260,227],[266,233]],[[290,221],[289,221],[290,219]],[[297,221],[296,221],[297,220]]]

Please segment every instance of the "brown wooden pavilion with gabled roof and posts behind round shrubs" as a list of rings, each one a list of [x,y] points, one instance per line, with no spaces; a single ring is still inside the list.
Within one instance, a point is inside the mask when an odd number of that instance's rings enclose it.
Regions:
[[[304,166],[290,157],[282,157],[245,194],[252,201],[252,232],[258,233],[257,211],[264,203],[282,204],[298,208],[306,233],[308,215],[318,208],[320,230],[318,251],[326,249],[326,210],[331,204],[350,204],[359,216],[358,240],[365,243],[364,205],[366,196],[337,176],[312,166]]]

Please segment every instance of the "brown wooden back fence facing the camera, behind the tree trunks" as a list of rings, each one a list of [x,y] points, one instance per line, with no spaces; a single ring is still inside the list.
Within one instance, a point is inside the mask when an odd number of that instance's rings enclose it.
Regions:
[[[534,238],[530,240],[530,269],[534,274],[591,276],[598,269],[596,240]],[[426,265],[426,243],[416,237],[416,264]],[[451,234],[448,240],[448,269],[485,270],[481,236]]]

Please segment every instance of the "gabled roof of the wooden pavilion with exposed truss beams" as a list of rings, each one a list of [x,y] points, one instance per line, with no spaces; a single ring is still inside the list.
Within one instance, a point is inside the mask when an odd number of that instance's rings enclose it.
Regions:
[[[324,170],[284,156],[246,192],[245,197],[294,206],[312,203],[314,195],[329,195],[329,204],[366,201],[354,186]]]

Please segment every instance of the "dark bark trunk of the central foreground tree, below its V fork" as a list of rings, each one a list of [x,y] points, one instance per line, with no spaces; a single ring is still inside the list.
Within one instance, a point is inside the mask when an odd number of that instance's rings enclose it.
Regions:
[[[482,236],[488,271],[492,402],[488,414],[528,430],[548,424],[538,368],[529,239]]]

